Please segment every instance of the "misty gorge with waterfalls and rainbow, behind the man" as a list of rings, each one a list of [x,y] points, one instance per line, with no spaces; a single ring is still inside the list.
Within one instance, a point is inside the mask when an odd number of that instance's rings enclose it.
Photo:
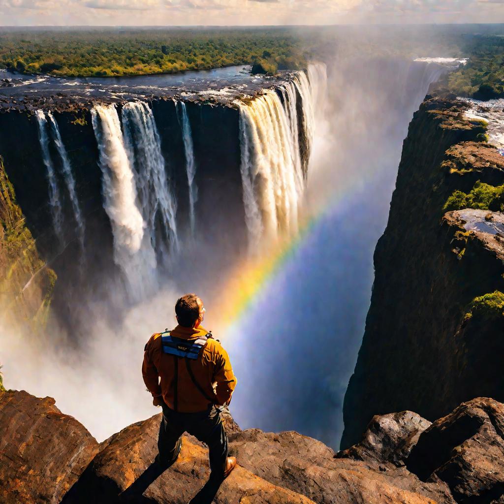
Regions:
[[[243,394],[233,405],[240,424],[292,428],[338,446],[371,250],[388,210],[384,195],[409,118],[448,68],[394,59],[327,63],[327,82],[325,66],[311,66],[283,81],[266,79],[258,96],[257,83],[241,98],[243,83],[152,99],[142,88],[135,99],[110,95],[83,105],[83,91],[75,103],[46,97],[45,106],[26,101],[21,111],[0,114],[6,173],[44,258],[42,274],[30,271],[20,290],[28,296],[39,288],[32,275],[57,276],[49,331],[39,336],[48,351],[26,356],[17,336],[5,343],[12,387],[56,396],[99,438],[145,417],[151,410],[141,406],[140,376],[131,377],[138,348],[160,323],[169,325],[176,292],[197,286],[214,312],[210,329],[240,369]],[[349,228],[349,215],[367,232]],[[343,260],[349,250],[350,263]],[[268,282],[286,251],[285,266]],[[233,289],[236,277],[258,284],[251,299]],[[290,362],[302,361],[326,332],[306,339],[303,328],[335,319],[317,306],[306,318],[310,288],[339,307],[338,344],[305,372]],[[289,320],[275,316],[280,301],[292,308]],[[288,334],[296,349],[286,351],[272,334]],[[260,360],[250,357],[255,345],[269,348]],[[21,355],[27,367],[17,374],[9,361]],[[272,386],[278,369],[283,378]],[[78,403],[74,383],[83,387]],[[294,414],[299,393],[313,403],[303,415]],[[292,406],[272,416],[279,397]],[[103,415],[90,414],[87,404],[103,405]]]

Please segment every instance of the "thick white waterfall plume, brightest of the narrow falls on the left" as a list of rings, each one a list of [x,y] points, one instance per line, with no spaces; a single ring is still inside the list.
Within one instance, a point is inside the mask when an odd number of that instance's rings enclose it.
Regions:
[[[135,174],[114,105],[91,110],[103,174],[103,206],[112,226],[114,262],[123,270],[130,295],[142,299],[155,283],[156,258],[139,208]]]

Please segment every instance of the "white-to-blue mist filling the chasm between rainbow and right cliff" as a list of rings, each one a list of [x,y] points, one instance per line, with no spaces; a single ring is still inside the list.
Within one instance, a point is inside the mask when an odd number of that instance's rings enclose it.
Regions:
[[[320,217],[227,332],[239,377],[233,412],[243,428],[292,429],[338,448],[402,141],[445,71],[394,59],[328,65],[306,191],[308,212]]]

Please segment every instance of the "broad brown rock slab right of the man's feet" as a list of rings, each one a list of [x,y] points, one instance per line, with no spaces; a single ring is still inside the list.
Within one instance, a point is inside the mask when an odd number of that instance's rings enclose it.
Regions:
[[[248,471],[317,504],[455,502],[443,482],[421,482],[404,467],[335,459],[323,443],[293,431],[244,430],[232,436],[230,450]]]

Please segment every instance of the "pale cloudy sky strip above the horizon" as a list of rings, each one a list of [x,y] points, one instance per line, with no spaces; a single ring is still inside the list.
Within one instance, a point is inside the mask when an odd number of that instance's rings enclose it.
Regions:
[[[0,0],[0,25],[503,23],[504,0]]]

